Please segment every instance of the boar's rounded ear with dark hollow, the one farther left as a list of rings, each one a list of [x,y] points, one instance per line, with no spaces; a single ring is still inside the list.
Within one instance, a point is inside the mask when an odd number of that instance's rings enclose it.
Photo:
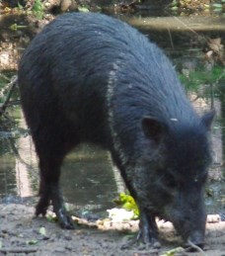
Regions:
[[[167,127],[163,122],[151,117],[143,118],[142,129],[146,137],[150,138],[156,143],[159,143],[163,139],[167,131]]]

